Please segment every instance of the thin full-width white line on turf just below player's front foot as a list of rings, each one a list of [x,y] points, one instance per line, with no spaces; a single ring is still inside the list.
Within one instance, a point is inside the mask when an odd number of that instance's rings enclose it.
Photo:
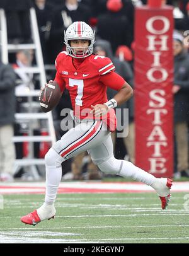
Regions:
[[[140,226],[67,226],[60,228],[0,228],[0,230],[75,230],[77,228],[88,229],[88,228],[168,228],[168,227],[188,227],[189,224],[176,224],[176,225],[140,225]]]

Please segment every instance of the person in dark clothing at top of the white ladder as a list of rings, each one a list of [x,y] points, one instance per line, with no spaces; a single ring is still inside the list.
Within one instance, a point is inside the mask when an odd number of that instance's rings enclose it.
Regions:
[[[31,0],[6,0],[3,8],[6,11],[8,40],[13,44],[31,42],[29,10]]]

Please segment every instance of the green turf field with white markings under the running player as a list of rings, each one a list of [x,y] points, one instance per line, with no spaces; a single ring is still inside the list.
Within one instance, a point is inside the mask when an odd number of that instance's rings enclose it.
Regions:
[[[0,243],[188,243],[185,194],[172,193],[166,211],[154,193],[61,194],[56,218],[35,227],[20,216],[39,207],[44,196],[4,195]]]

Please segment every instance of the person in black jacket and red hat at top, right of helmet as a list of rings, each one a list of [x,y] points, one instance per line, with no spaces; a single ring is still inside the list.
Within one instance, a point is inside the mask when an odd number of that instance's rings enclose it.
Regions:
[[[122,0],[108,0],[106,8],[108,9],[107,13],[98,16],[97,35],[111,42],[113,52],[119,45],[130,46],[132,28],[127,16],[121,12]]]

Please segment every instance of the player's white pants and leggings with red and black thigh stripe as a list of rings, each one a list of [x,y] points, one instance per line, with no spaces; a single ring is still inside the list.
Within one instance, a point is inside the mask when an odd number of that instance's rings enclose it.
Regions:
[[[104,173],[131,177],[139,182],[152,185],[156,178],[129,161],[117,160],[113,156],[110,131],[101,121],[81,122],[70,129],[45,155],[46,195],[45,202],[55,202],[57,189],[62,178],[61,163],[83,151],[91,154],[93,162]]]

